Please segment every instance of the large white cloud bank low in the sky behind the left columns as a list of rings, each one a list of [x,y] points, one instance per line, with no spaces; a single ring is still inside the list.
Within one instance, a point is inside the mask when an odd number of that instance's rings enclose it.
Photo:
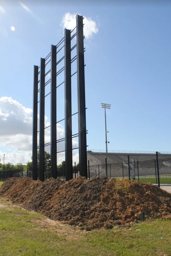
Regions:
[[[32,156],[32,109],[25,108],[11,97],[0,98],[0,145],[6,148],[6,152],[0,151],[2,160],[6,154],[6,162],[13,164],[31,160]],[[39,119],[39,115],[38,115]],[[45,127],[49,126],[45,117]],[[57,124],[57,139],[65,137],[64,127]],[[38,136],[39,142],[39,136]],[[45,143],[50,142],[50,127],[45,129]],[[78,142],[73,138],[73,148],[78,147]],[[65,141],[57,143],[57,151],[65,150]],[[12,151],[12,152],[11,152]],[[50,152],[50,146],[45,147]],[[65,159],[65,152],[57,154],[57,164]],[[77,161],[76,150],[73,150],[73,161]]]

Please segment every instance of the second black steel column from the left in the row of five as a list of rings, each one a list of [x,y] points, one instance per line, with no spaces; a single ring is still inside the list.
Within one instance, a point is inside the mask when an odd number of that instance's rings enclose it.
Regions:
[[[44,181],[44,105],[45,105],[45,59],[40,59],[40,105],[39,105],[39,180]]]

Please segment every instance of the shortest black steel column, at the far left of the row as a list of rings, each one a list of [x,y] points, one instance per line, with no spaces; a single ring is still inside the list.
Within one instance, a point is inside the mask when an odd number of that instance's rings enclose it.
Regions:
[[[32,135],[32,169],[33,180],[38,179],[37,148],[38,148],[38,66],[34,66],[33,81],[33,135]]]

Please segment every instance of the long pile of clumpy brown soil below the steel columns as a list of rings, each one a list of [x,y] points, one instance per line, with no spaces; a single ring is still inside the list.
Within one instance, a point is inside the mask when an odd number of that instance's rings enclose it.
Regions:
[[[0,196],[53,220],[91,230],[130,225],[146,218],[171,220],[171,194],[151,183],[83,177],[65,182],[11,178]]]

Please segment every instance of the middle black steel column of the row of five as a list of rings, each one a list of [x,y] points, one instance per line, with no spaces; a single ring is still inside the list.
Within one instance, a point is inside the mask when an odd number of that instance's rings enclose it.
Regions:
[[[51,45],[51,172],[57,178],[56,150],[56,45]]]

